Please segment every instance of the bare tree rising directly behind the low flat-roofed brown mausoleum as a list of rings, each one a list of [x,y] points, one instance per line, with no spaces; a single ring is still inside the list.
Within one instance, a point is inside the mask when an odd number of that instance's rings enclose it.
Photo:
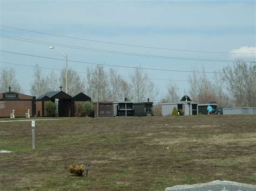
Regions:
[[[107,101],[109,81],[103,66],[87,68],[87,94],[93,101]]]

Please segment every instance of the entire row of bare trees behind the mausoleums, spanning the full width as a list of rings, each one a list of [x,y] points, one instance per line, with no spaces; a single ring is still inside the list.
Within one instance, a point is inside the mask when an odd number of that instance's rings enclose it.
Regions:
[[[189,86],[184,90],[184,95],[187,94],[198,103],[216,101],[219,107],[256,107],[255,71],[255,63],[246,63],[242,59],[235,60],[233,65],[216,72],[211,79],[204,69],[200,73],[195,69],[187,78]],[[65,72],[63,68],[59,74],[52,70],[45,75],[36,66],[30,82],[31,95],[38,97],[48,91],[57,91],[59,86],[65,91]],[[5,92],[10,86],[12,91],[23,93],[13,68],[2,68],[0,80],[1,92]],[[183,96],[174,82],[167,83],[166,90],[167,93],[161,96],[158,107],[160,103],[177,102]],[[129,76],[123,77],[115,68],[106,70],[103,65],[87,67],[83,76],[72,68],[68,69],[68,94],[75,96],[80,92],[90,96],[92,101],[123,101],[126,97],[132,102],[143,102],[148,97],[156,100],[159,95],[158,88],[142,68],[134,68]]]

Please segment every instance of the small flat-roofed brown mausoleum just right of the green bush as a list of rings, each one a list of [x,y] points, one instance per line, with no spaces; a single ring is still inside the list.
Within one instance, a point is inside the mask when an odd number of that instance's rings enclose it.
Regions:
[[[95,117],[113,117],[113,102],[94,102]]]

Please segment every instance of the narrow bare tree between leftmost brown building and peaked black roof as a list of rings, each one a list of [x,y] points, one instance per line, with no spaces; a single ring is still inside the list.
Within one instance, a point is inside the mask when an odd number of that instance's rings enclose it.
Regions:
[[[38,65],[36,65],[35,68],[33,68],[33,80],[30,82],[30,93],[32,96],[42,96],[47,91],[49,91],[48,82],[45,78],[45,76],[42,73],[42,69],[39,68]]]

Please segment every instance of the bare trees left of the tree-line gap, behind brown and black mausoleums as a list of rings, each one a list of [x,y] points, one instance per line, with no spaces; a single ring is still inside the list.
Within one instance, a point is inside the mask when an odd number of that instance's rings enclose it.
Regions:
[[[45,74],[38,65],[33,68],[32,80],[30,82],[32,96],[42,96],[49,91],[58,91],[60,86],[65,91],[65,73],[66,68],[60,70],[57,74],[51,70],[49,74]],[[68,94],[75,96],[83,92],[92,98],[92,101],[123,101],[124,98],[132,102],[143,102],[148,97],[154,98],[158,96],[158,89],[149,79],[145,70],[140,67],[134,68],[129,73],[130,80],[120,76],[114,68],[106,70],[104,66],[87,67],[86,74],[80,75],[78,72],[69,68],[68,71]],[[2,83],[0,91],[5,92],[9,86],[12,91],[23,93],[21,85],[15,78],[15,70],[13,68],[1,69],[0,79]]]

